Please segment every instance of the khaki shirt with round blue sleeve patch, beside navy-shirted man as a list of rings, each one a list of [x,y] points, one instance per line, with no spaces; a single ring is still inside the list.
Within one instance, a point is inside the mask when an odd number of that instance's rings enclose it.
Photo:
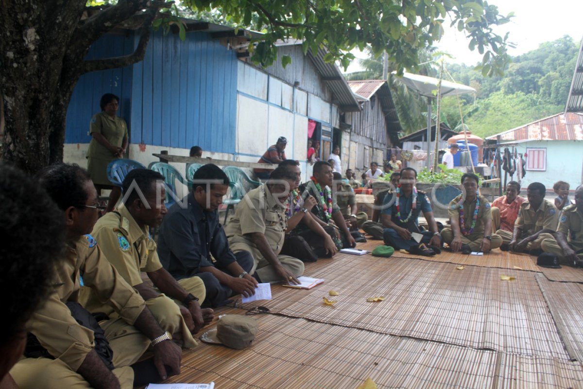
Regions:
[[[102,216],[93,227],[92,235],[107,260],[131,286],[140,285],[140,272],[153,272],[162,268],[156,251],[156,243],[148,232],[132,218],[122,204],[115,212]],[[82,288],[80,301],[90,312],[110,315],[113,310],[99,302],[90,288]]]

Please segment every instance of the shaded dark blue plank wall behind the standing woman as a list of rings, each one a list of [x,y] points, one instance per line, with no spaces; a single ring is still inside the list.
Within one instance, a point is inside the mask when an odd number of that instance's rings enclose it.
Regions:
[[[92,45],[87,59],[120,57],[134,51],[134,34],[102,36]],[[91,72],[82,75],[73,90],[67,110],[65,143],[89,143],[89,122],[94,114],[101,111],[99,100],[105,93],[120,97],[118,115],[132,128],[131,93],[132,66]]]

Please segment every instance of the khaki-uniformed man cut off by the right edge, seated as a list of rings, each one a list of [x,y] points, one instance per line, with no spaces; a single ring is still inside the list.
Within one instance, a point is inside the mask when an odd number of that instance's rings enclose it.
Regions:
[[[563,209],[554,239],[544,239],[540,247],[561,262],[583,266],[583,185],[575,190],[575,204]]]

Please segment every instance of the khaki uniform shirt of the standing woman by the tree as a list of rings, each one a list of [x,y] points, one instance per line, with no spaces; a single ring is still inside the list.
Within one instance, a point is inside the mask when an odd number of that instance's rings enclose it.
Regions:
[[[89,132],[91,134],[99,132],[111,145],[121,147],[124,138],[128,136],[128,125],[121,117],[111,117],[104,112],[100,112],[91,119]],[[87,149],[87,157],[111,159],[111,151],[92,138],[89,143],[89,149]]]

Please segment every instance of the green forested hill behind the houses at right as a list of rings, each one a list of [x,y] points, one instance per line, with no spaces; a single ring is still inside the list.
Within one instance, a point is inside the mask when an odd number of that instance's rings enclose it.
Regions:
[[[565,109],[579,43],[564,36],[537,50],[512,58],[503,77],[485,78],[473,66],[446,64],[459,83],[477,90],[477,96],[460,96],[464,122],[473,134],[489,136],[562,112]],[[449,77],[444,77],[449,79]],[[475,107],[478,107],[477,109]],[[459,122],[458,99],[443,99],[448,124]]]

